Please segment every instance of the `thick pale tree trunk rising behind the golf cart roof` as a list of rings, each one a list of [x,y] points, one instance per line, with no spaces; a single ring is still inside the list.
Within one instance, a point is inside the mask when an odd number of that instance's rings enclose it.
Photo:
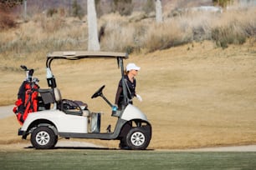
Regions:
[[[88,50],[100,51],[95,0],[87,0]]]

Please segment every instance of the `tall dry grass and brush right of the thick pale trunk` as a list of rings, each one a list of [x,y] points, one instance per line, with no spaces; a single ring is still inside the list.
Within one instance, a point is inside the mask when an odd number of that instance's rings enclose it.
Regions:
[[[139,16],[141,22],[136,22]],[[142,19],[143,16],[136,13],[127,20],[109,14],[100,18],[100,25],[105,26],[101,47],[115,51],[154,52],[202,40],[212,40],[219,47],[228,47],[255,36],[255,8],[224,13],[186,11],[176,17],[166,17],[162,24],[154,23],[152,18]]]

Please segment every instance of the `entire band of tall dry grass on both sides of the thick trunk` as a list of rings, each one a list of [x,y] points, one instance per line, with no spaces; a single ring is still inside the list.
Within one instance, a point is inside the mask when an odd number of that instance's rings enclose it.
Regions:
[[[143,14],[126,18],[110,13],[99,20],[98,29],[105,27],[100,46],[104,51],[154,52],[203,40],[212,40],[220,47],[242,44],[246,38],[255,37],[255,11],[250,8],[224,13],[184,12],[166,17],[162,24],[155,24],[154,18],[138,17]],[[0,52],[29,55],[36,51],[84,49],[88,37],[86,23],[86,18],[35,15],[11,32],[0,32]]]

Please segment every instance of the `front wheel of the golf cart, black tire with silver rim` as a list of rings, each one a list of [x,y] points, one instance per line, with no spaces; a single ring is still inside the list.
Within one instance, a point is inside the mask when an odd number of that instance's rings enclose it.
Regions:
[[[132,150],[144,150],[148,147],[151,137],[144,128],[132,128],[126,136],[127,147]]]

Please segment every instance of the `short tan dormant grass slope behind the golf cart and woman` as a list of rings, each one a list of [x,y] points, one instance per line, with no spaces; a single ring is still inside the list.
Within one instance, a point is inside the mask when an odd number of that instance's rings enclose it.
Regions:
[[[46,55],[46,54],[45,54]],[[14,60],[13,60],[14,61]],[[24,79],[19,65],[35,68],[34,76],[46,88],[45,62],[3,60],[0,103],[12,104]],[[152,124],[149,149],[202,148],[256,143],[256,43],[230,45],[213,42],[187,44],[147,54],[132,54],[125,64],[141,67],[137,92],[143,102],[134,104]],[[92,112],[104,112],[101,132],[109,124],[110,107],[91,95],[102,85],[111,102],[120,80],[115,60],[54,61],[54,76],[64,98],[87,102]],[[1,120],[0,143],[17,143],[20,125],[15,117]],[[84,140],[106,148],[119,141]]]

